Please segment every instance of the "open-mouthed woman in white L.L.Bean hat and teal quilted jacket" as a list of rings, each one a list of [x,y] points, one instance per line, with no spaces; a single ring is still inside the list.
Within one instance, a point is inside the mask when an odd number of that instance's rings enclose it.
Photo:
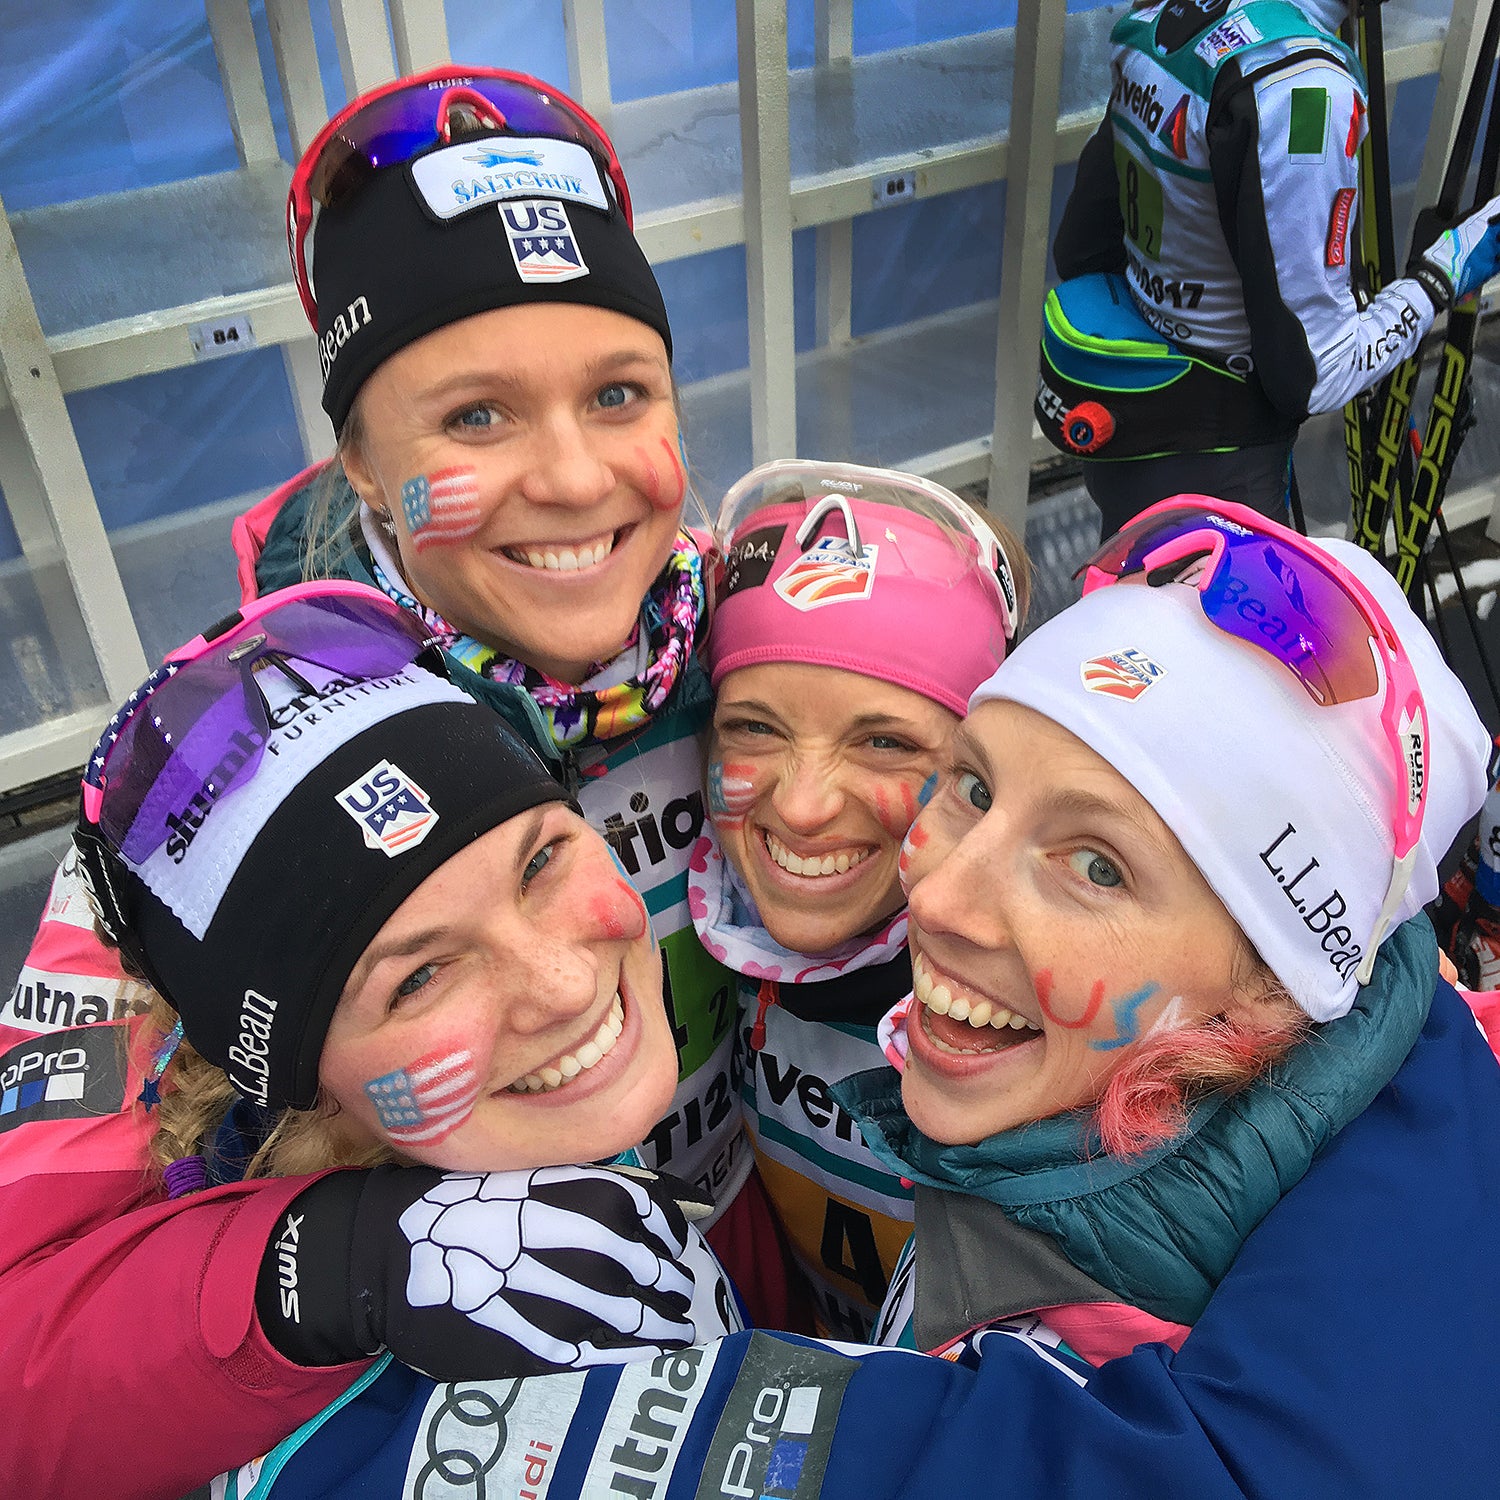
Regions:
[[[1107,543],[972,698],[909,836],[902,1077],[837,1090],[918,1184],[886,1338],[1180,1346],[1455,1004],[1422,906],[1486,750],[1358,549],[1200,496]]]

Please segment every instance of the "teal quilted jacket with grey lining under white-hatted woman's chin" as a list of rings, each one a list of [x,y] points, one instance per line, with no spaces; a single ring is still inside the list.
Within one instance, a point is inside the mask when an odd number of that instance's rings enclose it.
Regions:
[[[1436,968],[1432,924],[1402,922],[1347,1016],[1314,1028],[1248,1088],[1202,1100],[1179,1134],[1131,1156],[1102,1149],[1092,1108],[942,1146],[906,1118],[892,1068],[844,1078],[834,1096],[876,1158],[918,1185],[916,1294],[908,1286],[902,1298],[916,1311],[909,1347],[946,1348],[978,1323],[1068,1304],[1098,1305],[1106,1322],[1113,1300],[1192,1324],[1245,1236],[1401,1066]],[[1128,1348],[1134,1324],[1125,1335]]]

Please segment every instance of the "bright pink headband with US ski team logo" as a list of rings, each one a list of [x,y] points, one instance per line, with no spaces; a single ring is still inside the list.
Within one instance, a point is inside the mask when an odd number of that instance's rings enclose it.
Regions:
[[[708,638],[716,688],[744,666],[801,662],[894,682],[962,717],[1005,658],[1006,604],[978,543],[912,510],[843,495],[765,506],[724,552]]]

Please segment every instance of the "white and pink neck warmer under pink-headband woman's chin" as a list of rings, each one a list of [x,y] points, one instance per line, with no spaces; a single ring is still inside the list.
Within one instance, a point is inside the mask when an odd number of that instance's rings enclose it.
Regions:
[[[783,948],[760,924],[750,892],[708,824],[687,864],[687,909],[693,914],[699,942],[720,963],[750,980],[816,984],[888,963],[906,946],[903,906],[879,932],[850,938],[832,952],[804,954]]]

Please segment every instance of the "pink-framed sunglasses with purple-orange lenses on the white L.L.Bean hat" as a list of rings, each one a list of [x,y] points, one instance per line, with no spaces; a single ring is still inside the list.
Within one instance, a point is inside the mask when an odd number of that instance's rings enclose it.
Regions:
[[[1360,964],[1364,984],[1412,879],[1430,780],[1426,705],[1374,594],[1306,537],[1209,495],[1174,495],[1143,510],[1080,574],[1084,594],[1110,584],[1185,584],[1209,621],[1272,656],[1314,704],[1380,698],[1383,748],[1404,792],[1390,810],[1390,885]]]

